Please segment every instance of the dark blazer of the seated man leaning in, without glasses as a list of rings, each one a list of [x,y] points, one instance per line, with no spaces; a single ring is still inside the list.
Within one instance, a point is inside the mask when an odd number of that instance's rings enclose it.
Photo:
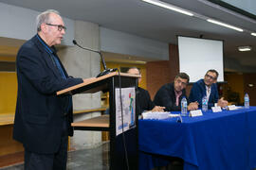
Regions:
[[[174,83],[168,83],[163,85],[155,94],[154,103],[156,106],[165,107],[165,111],[180,110],[180,102],[182,97],[186,97],[186,90],[182,90],[182,94],[179,96],[179,103],[176,106],[176,96],[174,92]],[[188,101],[189,103],[189,101]]]

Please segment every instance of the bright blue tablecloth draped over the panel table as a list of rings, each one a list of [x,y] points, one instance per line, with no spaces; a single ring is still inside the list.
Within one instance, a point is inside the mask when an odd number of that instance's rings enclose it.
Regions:
[[[185,170],[256,167],[256,107],[176,120],[139,120],[139,169],[167,164],[154,154],[183,159]]]

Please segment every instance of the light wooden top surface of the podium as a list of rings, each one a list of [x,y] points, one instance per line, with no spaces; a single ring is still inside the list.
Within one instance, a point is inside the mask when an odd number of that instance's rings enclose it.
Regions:
[[[87,85],[90,85],[90,84],[93,84],[93,83],[96,83],[96,82],[100,82],[100,81],[102,81],[104,79],[107,79],[109,77],[112,77],[112,76],[119,76],[119,73],[118,72],[113,72],[113,73],[110,73],[110,74],[105,75],[105,76],[85,78],[85,79],[83,79],[83,82],[80,83],[80,84],[77,84],[75,86],[71,86],[71,87],[66,88],[62,91],[58,91],[57,95],[72,93],[72,91],[76,91],[78,89],[81,89],[82,87],[85,87]],[[120,76],[128,76],[128,77],[134,77],[134,78],[141,77],[141,76],[126,74],[126,73],[120,73]]]

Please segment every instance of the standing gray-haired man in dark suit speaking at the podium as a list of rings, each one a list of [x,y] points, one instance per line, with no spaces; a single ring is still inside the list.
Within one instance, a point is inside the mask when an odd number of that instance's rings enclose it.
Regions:
[[[37,16],[37,34],[20,48],[17,59],[18,96],[13,138],[25,148],[26,170],[65,169],[68,135],[73,135],[71,96],[56,92],[82,83],[68,76],[54,45],[65,33],[56,10]]]

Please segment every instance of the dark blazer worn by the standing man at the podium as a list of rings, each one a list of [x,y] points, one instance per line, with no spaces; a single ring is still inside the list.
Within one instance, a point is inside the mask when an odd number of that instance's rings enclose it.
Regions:
[[[61,143],[64,112],[67,112],[69,135],[73,134],[70,96],[60,97],[56,92],[82,83],[82,78],[69,77],[64,70],[67,77],[64,79],[36,36],[20,48],[16,69],[18,95],[13,138],[29,151],[54,153]],[[68,104],[71,106],[67,111]]]

